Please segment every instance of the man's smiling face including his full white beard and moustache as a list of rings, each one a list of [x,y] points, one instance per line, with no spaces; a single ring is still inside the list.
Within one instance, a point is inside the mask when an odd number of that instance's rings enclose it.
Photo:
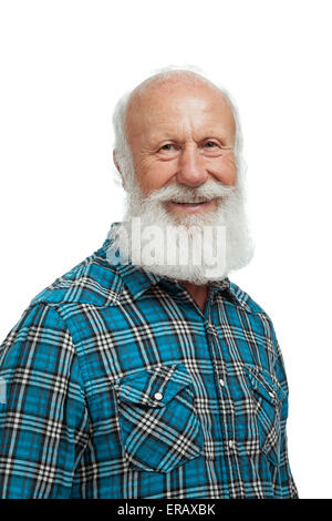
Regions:
[[[234,153],[236,125],[222,94],[184,78],[149,84],[134,91],[126,130],[132,152],[123,168],[127,204],[113,237],[122,257],[156,275],[199,285],[248,264],[252,247]],[[206,241],[209,229],[214,235]],[[145,257],[146,247],[155,258]]]

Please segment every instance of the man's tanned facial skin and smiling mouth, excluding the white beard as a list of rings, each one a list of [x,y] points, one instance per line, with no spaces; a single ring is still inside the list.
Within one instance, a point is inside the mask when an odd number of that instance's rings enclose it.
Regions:
[[[128,104],[126,126],[136,180],[149,195],[162,187],[197,188],[207,181],[234,186],[235,120],[222,94],[190,82],[149,85]],[[191,193],[193,192],[191,190]],[[217,210],[217,200],[165,202],[177,218]]]

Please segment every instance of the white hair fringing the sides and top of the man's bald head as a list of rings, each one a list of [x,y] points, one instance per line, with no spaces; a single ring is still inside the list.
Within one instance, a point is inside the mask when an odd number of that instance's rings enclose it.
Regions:
[[[126,115],[127,115],[127,108],[128,102],[134,94],[134,92],[143,92],[151,83],[159,83],[163,84],[167,80],[173,79],[175,76],[185,78],[191,81],[194,84],[201,84],[207,83],[215,89],[217,89],[226,101],[229,103],[230,109],[232,111],[232,115],[236,123],[236,142],[235,142],[235,160],[237,165],[237,173],[238,173],[238,183],[243,183],[245,177],[245,161],[243,161],[243,139],[242,139],[242,131],[240,125],[239,119],[239,111],[235,101],[232,100],[229,92],[212,83],[208,80],[204,73],[197,72],[197,68],[193,67],[185,67],[185,68],[177,68],[177,67],[167,67],[164,69],[159,69],[156,73],[145,81],[139,83],[135,89],[129,92],[126,92],[116,103],[114,112],[113,112],[113,126],[114,126],[114,154],[115,160],[118,165],[118,170],[121,171],[122,182],[124,184],[125,190],[129,190],[134,184],[135,180],[133,180],[133,175],[135,175],[135,168],[133,164],[133,155],[127,140],[127,132],[126,132]]]

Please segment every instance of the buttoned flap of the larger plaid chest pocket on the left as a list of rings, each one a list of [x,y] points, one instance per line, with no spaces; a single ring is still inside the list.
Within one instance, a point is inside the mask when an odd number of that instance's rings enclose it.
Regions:
[[[164,407],[184,387],[191,384],[181,364],[143,369],[117,381],[115,390],[121,401],[148,407]]]

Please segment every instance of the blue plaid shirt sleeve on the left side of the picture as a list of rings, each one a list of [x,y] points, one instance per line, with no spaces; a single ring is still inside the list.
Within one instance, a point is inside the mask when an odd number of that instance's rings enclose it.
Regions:
[[[50,305],[29,307],[0,349],[0,497],[65,499],[89,442],[71,334]]]

